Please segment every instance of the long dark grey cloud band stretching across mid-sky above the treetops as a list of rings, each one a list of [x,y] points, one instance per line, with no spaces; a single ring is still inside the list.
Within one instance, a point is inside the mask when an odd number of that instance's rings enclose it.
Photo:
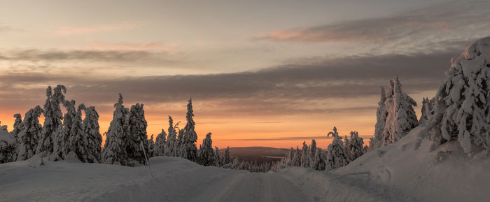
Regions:
[[[468,42],[469,44],[470,42]],[[352,101],[379,96],[379,85],[398,75],[405,92],[430,91],[440,85],[449,59],[465,46],[414,55],[375,55],[341,59],[300,60],[239,73],[90,78],[63,73],[6,73],[0,75],[3,106],[42,104],[47,85],[64,84],[67,98],[112,110],[118,92],[127,103],[185,103],[189,97],[207,102],[216,115],[277,115],[375,111],[377,103],[328,106],[328,101]],[[15,84],[15,85],[13,85]],[[6,105],[8,104],[8,105]],[[31,104],[31,106],[33,106]],[[260,120],[258,120],[260,121]]]

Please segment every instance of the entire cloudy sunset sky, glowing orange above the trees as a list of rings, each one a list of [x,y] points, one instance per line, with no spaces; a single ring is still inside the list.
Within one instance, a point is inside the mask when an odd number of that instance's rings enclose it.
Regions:
[[[368,139],[379,86],[398,75],[420,104],[490,33],[490,1],[0,1],[9,130],[62,84],[101,134],[118,93],[144,103],[148,137],[169,115],[183,127],[192,97],[197,145],[218,147],[327,147],[334,126]]]

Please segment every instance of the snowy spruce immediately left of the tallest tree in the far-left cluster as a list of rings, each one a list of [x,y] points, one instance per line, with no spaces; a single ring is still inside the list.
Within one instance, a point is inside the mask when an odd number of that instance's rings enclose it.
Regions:
[[[41,116],[41,113],[43,113],[43,109],[39,106],[31,108],[25,113],[24,122],[22,123],[22,128],[20,128],[18,134],[19,145],[17,147],[17,161],[29,159],[36,153],[39,134],[42,130],[42,126],[39,124],[39,116]],[[14,126],[18,127],[19,124],[14,124]]]

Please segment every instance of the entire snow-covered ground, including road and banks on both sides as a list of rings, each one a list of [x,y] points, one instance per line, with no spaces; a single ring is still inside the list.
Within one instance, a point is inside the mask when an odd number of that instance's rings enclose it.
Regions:
[[[421,128],[333,172],[249,173],[151,159],[127,167],[35,159],[0,164],[0,201],[488,201],[490,159],[471,161],[454,141],[414,144]]]

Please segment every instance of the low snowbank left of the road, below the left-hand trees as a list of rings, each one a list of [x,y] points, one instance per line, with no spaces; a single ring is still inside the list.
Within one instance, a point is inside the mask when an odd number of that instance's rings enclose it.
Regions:
[[[146,166],[45,161],[32,168],[33,159],[0,164],[0,201],[190,201],[200,189],[241,173],[176,157],[152,158],[153,178]]]

